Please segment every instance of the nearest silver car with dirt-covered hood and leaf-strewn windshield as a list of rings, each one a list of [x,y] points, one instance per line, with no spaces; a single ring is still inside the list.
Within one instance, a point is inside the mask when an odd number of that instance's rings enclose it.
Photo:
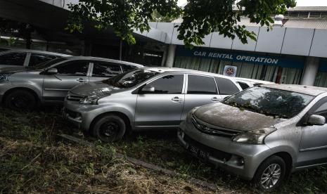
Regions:
[[[262,190],[291,172],[327,164],[327,89],[267,84],[193,108],[179,126],[189,153]]]

